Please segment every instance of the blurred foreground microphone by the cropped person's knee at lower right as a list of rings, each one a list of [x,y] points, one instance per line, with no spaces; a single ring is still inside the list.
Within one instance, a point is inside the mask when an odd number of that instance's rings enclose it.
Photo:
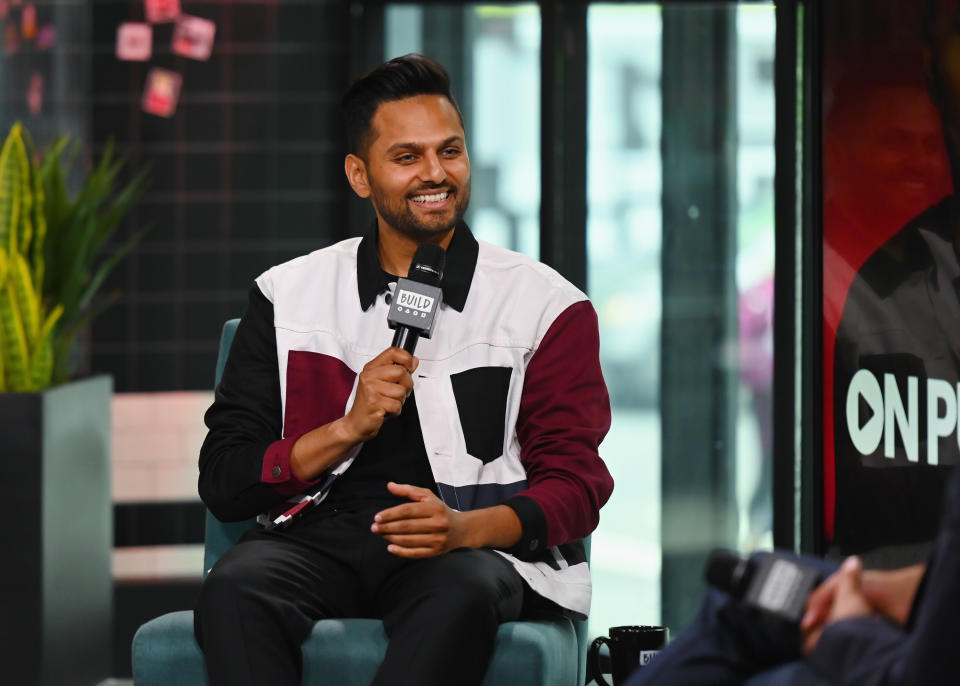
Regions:
[[[799,624],[820,570],[779,553],[746,558],[729,550],[710,553],[704,577],[736,600],[791,624]]]

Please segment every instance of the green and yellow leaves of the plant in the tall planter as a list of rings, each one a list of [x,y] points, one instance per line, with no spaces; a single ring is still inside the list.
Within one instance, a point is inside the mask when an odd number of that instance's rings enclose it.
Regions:
[[[98,297],[107,276],[148,230],[113,242],[150,183],[123,179],[113,141],[92,164],[68,136],[35,151],[20,124],[0,148],[0,392],[66,380],[77,334],[115,300]]]

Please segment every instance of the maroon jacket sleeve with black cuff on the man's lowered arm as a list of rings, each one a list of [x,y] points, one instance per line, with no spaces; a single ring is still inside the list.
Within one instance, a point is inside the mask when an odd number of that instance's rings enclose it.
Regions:
[[[527,365],[517,438],[528,487],[506,502],[523,524],[510,552],[529,557],[596,528],[613,491],[598,452],[609,428],[597,314],[584,300],[554,320]]]

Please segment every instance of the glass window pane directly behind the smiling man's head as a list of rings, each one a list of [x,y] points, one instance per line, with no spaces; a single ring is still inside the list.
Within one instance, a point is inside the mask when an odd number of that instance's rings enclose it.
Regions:
[[[423,52],[451,71],[467,126],[471,230],[538,258],[539,7],[391,4],[385,33],[385,58]]]

